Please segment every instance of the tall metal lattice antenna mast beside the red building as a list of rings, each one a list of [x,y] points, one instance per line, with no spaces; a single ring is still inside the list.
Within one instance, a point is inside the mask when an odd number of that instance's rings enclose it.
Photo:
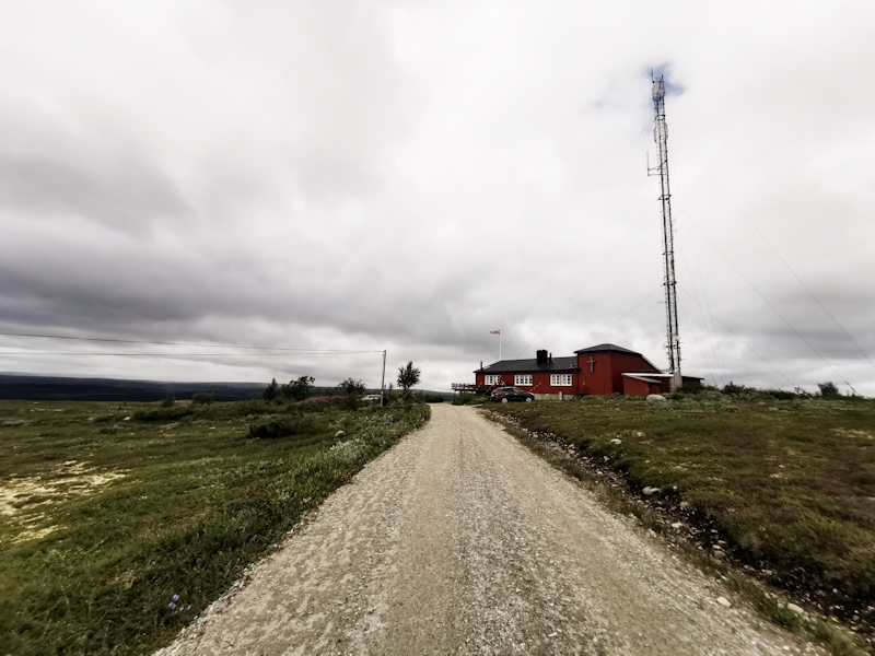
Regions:
[[[680,376],[680,337],[677,329],[677,281],[675,279],[675,227],[672,222],[672,194],[668,190],[668,130],[665,125],[665,80],[653,77],[653,109],[656,114],[653,140],[658,148],[658,163],[648,165],[648,175],[660,176],[660,203],[663,210],[663,269],[665,271],[665,323],[668,352],[668,371],[672,374],[672,391],[678,389]]]

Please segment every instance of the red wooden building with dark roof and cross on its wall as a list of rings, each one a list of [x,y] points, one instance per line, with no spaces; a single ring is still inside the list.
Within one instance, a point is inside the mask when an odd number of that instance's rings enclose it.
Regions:
[[[669,390],[672,379],[641,353],[616,344],[581,349],[569,358],[538,351],[534,360],[502,360],[474,373],[478,386],[514,385],[538,398],[663,394]],[[684,385],[701,382],[684,376]]]

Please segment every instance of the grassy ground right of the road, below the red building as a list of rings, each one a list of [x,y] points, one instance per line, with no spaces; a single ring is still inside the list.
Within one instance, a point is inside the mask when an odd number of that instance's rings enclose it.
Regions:
[[[491,406],[716,526],[742,563],[868,634],[875,617],[875,402],[716,393]],[[611,441],[619,441],[611,442]],[[710,531],[709,531],[710,532]],[[791,613],[792,614],[792,613]]]

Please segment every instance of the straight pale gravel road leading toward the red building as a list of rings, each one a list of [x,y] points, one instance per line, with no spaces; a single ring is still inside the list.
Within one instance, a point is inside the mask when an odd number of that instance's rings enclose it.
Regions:
[[[452,406],[160,652],[788,653],[820,652]]]

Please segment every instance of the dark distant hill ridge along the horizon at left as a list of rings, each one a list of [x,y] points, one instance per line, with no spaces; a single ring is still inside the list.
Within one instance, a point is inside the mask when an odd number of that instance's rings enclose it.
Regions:
[[[199,391],[210,391],[217,401],[241,401],[261,396],[267,383],[162,383],[118,378],[69,378],[0,374],[0,400],[18,401],[160,401],[170,393],[190,399]],[[380,394],[369,389],[368,394]],[[418,390],[420,391],[420,390]],[[452,400],[453,393],[422,390]],[[337,394],[335,387],[314,387],[312,396]],[[397,393],[396,393],[397,394]]]

